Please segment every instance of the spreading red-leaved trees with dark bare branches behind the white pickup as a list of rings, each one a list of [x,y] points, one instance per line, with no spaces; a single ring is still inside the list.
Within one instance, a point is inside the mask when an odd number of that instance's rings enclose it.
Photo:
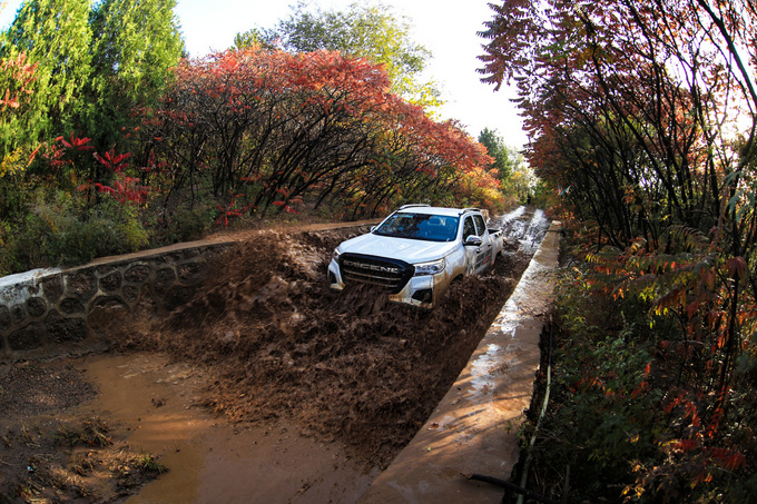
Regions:
[[[244,189],[260,215],[296,211],[289,202],[305,197],[375,213],[464,174],[498,187],[482,146],[391,95],[384,69],[366,60],[250,48],[185,60],[175,73],[146,135],[175,180],[198,174],[216,194]]]

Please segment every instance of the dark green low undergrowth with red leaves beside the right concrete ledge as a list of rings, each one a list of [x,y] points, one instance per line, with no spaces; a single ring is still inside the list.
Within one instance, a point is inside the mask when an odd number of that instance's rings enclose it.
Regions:
[[[540,492],[557,500],[570,487],[568,502],[745,502],[757,486],[754,354],[741,355],[720,402],[719,347],[697,339],[692,314],[618,296],[610,280],[607,264],[581,261],[558,280],[552,389],[532,453]],[[532,429],[522,431],[529,441]]]

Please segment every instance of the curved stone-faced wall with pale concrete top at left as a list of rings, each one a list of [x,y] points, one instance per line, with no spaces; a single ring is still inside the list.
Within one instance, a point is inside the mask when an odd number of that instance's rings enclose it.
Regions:
[[[0,278],[0,363],[105,349],[106,332],[140,305],[189,300],[230,241],[197,241]]]

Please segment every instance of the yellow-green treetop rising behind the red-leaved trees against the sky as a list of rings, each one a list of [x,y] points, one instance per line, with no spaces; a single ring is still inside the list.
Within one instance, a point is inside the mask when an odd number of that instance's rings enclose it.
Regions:
[[[285,50],[341,51],[385,65],[393,92],[415,105],[438,107],[441,102],[436,85],[421,80],[431,51],[415,43],[411,31],[410,20],[396,17],[386,6],[352,3],[345,11],[324,11],[301,1],[275,29],[247,33],[262,36],[266,43],[278,43]]]

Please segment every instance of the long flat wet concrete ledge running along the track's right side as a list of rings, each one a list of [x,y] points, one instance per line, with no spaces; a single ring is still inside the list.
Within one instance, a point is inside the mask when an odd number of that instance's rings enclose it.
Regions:
[[[518,429],[531,404],[541,329],[553,299],[561,223],[552,221],[515,290],[454,385],[358,504],[499,504],[504,491],[468,480],[508,481]]]

